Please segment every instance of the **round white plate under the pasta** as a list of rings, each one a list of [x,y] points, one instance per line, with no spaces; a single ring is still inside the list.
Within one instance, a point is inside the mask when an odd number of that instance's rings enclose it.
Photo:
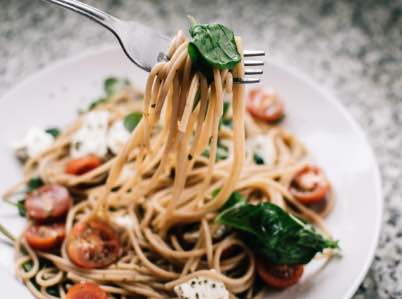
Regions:
[[[143,86],[146,78],[120,49],[104,48],[57,63],[4,96],[0,103],[0,192],[20,178],[9,144],[33,125],[67,124],[80,107],[102,94],[102,81],[110,75],[128,76],[137,86]],[[308,267],[300,284],[269,298],[350,298],[369,268],[381,226],[381,184],[372,151],[339,102],[304,75],[267,61],[263,81],[281,94],[287,115],[284,125],[307,145],[333,184],[337,200],[327,223],[342,248],[342,258],[318,272]],[[23,219],[4,203],[0,221],[16,234],[23,227]],[[0,242],[0,281],[10,286],[2,290],[9,298],[30,298],[15,281],[13,250],[4,242]]]

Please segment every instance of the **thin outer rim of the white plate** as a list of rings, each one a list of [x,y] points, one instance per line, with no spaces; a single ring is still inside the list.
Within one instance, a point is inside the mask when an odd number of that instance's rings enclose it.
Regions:
[[[7,98],[13,96],[13,93],[17,92],[19,89],[24,88],[24,85],[29,84],[31,81],[35,80],[38,76],[43,76],[48,72],[52,72],[54,69],[61,67],[63,65],[73,63],[77,60],[85,59],[86,57],[90,57],[93,55],[102,55],[102,53],[117,51],[120,50],[120,47],[112,44],[106,44],[97,47],[91,47],[89,49],[83,50],[80,53],[71,53],[66,58],[57,59],[49,64],[45,64],[43,68],[33,71],[32,73],[27,74],[22,77],[21,80],[17,84],[11,85],[7,88],[6,92],[0,95],[0,102],[5,101]],[[122,55],[124,53],[122,52]],[[127,59],[127,63],[131,63],[130,60]],[[361,139],[364,147],[368,151],[368,157],[371,163],[372,175],[374,179],[374,190],[375,190],[375,203],[378,205],[378,209],[376,209],[376,222],[375,222],[375,231],[374,237],[370,242],[370,246],[367,250],[368,254],[366,256],[364,265],[361,267],[359,274],[353,280],[353,283],[350,284],[349,288],[345,292],[345,297],[343,299],[350,299],[358,290],[360,284],[363,282],[365,276],[367,275],[370,266],[374,260],[376,249],[379,245],[380,234],[383,228],[383,217],[384,217],[384,194],[383,194],[383,186],[382,179],[380,175],[380,169],[378,165],[378,161],[376,159],[376,155],[373,151],[373,148],[367,138],[366,133],[363,131],[358,122],[354,119],[351,113],[347,110],[347,108],[343,105],[343,103],[339,100],[339,97],[335,96],[334,92],[328,87],[324,87],[319,85],[311,76],[307,73],[303,72],[302,69],[296,68],[294,66],[290,66],[286,62],[281,59],[272,58],[269,60],[269,63],[274,65],[275,67],[282,69],[286,73],[296,77],[296,79],[300,80],[302,83],[308,85],[310,88],[315,89],[319,93],[323,95],[325,101],[327,101],[330,105],[333,105],[341,115],[346,119],[346,121],[350,124],[352,130],[357,136]],[[145,73],[145,71],[144,71]]]

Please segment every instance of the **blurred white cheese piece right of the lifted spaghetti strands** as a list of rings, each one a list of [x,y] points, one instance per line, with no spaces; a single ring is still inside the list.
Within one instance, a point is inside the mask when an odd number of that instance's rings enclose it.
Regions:
[[[257,154],[264,160],[265,165],[273,165],[276,161],[275,145],[266,135],[256,135],[247,140],[247,151]]]

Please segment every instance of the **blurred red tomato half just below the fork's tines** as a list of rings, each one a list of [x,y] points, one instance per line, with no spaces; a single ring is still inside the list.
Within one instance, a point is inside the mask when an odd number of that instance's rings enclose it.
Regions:
[[[278,95],[262,88],[250,90],[246,108],[255,118],[270,123],[279,121],[285,114],[285,108]]]

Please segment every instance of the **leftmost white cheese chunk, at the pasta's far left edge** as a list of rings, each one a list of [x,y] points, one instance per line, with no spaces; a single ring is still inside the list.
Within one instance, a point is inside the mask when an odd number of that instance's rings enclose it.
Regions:
[[[26,160],[49,148],[54,140],[54,137],[45,130],[31,128],[20,142],[13,145],[13,148],[18,158]]]

